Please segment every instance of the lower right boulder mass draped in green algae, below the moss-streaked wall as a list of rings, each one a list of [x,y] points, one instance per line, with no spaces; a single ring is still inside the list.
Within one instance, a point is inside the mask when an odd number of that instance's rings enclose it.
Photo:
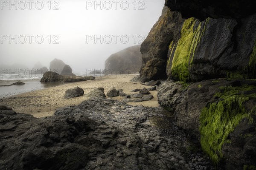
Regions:
[[[186,85],[186,87],[184,87]],[[175,113],[177,125],[217,165],[242,169],[256,162],[256,81],[211,79],[195,83],[166,81],[158,102]]]

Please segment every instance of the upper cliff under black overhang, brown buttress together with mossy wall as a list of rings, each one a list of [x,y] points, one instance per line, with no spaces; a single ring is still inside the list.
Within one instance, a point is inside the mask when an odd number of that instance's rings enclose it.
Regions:
[[[172,7],[172,1],[166,4]],[[141,45],[139,81],[161,79],[166,74],[182,81],[256,78],[255,26],[256,14],[237,20],[207,18],[201,22],[194,17],[184,20],[179,12],[164,7]]]

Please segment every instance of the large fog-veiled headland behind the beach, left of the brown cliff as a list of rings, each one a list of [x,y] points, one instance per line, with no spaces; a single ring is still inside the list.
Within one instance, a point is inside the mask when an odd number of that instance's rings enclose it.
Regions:
[[[112,54],[105,61],[105,72],[112,74],[131,74],[139,72],[142,63],[140,45],[131,46]]]

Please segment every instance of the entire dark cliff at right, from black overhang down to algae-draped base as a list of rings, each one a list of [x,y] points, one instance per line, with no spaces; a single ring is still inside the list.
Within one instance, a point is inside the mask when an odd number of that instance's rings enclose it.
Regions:
[[[177,125],[201,143],[216,166],[255,168],[255,2],[166,0],[165,5],[141,45],[137,80],[170,80],[159,87],[159,103],[175,113]]]

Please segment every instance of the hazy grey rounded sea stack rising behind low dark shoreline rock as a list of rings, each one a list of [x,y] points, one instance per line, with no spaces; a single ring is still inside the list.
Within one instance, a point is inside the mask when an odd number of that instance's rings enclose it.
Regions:
[[[56,58],[50,62],[50,71],[58,72],[61,75],[76,76],[72,73],[72,68],[69,65]]]

